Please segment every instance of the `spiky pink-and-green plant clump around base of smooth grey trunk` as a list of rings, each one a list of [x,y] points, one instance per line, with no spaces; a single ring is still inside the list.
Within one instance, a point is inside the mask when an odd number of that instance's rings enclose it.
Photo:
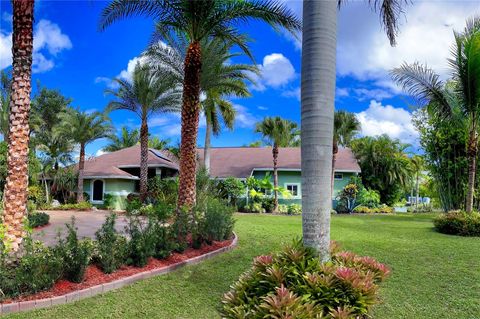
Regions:
[[[224,318],[358,318],[377,303],[378,284],[390,270],[370,257],[332,251],[321,263],[295,241],[255,258],[222,300]]]

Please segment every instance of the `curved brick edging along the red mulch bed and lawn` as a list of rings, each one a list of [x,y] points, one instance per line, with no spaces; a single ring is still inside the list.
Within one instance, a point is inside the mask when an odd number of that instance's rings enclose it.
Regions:
[[[63,305],[71,302],[75,302],[78,300],[82,300],[85,298],[93,297],[99,294],[103,294],[105,292],[119,289],[128,285],[131,285],[137,281],[147,279],[147,278],[152,278],[155,276],[167,274],[169,272],[172,272],[176,269],[182,268],[187,265],[195,265],[200,263],[201,261],[205,259],[212,258],[218,254],[224,253],[226,251],[232,250],[237,246],[238,243],[238,237],[237,234],[233,234],[234,238],[232,240],[232,243],[226,247],[219,248],[217,250],[208,252],[206,254],[190,258],[188,260],[180,261],[178,263],[172,264],[170,266],[165,266],[162,268],[158,269],[153,269],[153,270],[148,270],[144,271],[132,276],[124,277],[121,279],[117,279],[112,282],[108,282],[105,284],[93,286],[90,288],[74,291],[62,296],[56,296],[56,297],[51,297],[51,298],[45,298],[45,299],[38,299],[38,300],[28,300],[28,301],[21,301],[21,302],[13,302],[13,303],[7,303],[7,304],[0,304],[0,315],[6,315],[10,313],[15,313],[15,312],[21,312],[21,311],[28,311],[28,310],[34,310],[34,309],[42,309],[42,308],[48,308],[51,306],[56,306],[56,305]]]

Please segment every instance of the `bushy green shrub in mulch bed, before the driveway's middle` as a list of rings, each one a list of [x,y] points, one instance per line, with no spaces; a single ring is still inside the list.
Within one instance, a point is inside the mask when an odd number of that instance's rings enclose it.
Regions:
[[[55,249],[63,259],[63,277],[69,281],[79,283],[85,277],[94,245],[90,239],[78,239],[75,218],[72,217],[72,222],[66,224],[66,226],[67,237],[65,239],[59,238]]]

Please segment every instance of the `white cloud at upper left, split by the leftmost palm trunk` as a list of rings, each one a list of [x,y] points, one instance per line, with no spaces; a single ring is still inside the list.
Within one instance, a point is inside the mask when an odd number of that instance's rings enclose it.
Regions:
[[[32,71],[33,73],[49,71],[55,66],[54,58],[63,50],[71,49],[72,42],[57,24],[49,20],[40,20],[33,32]],[[12,64],[11,52],[12,32],[0,30],[0,69]]]

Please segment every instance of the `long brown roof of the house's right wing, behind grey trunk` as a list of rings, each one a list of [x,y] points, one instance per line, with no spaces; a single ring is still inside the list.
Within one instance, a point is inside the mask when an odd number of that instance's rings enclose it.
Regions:
[[[203,148],[198,149],[197,152],[200,161],[203,161]],[[300,170],[300,148],[279,148],[278,168],[279,170]],[[253,170],[273,170],[271,147],[218,147],[211,149],[210,174],[213,177],[247,178]],[[338,149],[335,171],[360,173],[360,166],[349,148],[340,147]]]

